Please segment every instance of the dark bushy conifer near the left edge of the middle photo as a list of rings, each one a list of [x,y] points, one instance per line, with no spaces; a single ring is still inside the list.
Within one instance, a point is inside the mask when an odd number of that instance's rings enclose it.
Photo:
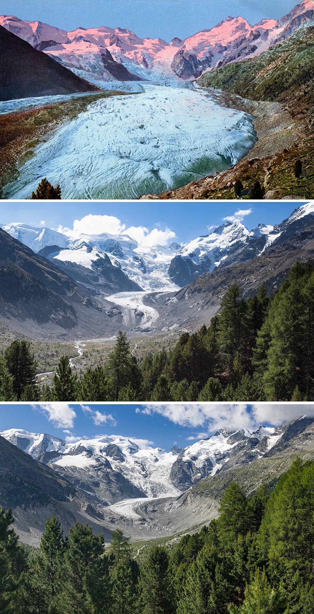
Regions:
[[[28,384],[34,387],[36,396],[39,391],[36,383],[37,362],[31,353],[31,344],[27,341],[13,341],[4,352],[7,370],[13,378],[13,393],[20,400],[21,394]],[[37,400],[33,398],[32,400]]]

